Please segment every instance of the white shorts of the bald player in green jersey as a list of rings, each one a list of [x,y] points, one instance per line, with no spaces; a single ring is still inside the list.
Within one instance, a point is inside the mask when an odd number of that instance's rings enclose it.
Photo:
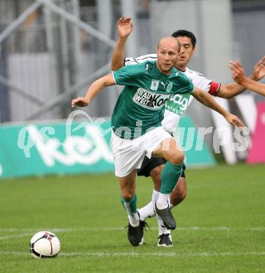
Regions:
[[[151,153],[164,139],[172,138],[163,127],[157,127],[137,139],[121,139],[114,132],[111,135],[114,155],[115,175],[124,177],[134,169],[140,169],[144,156],[151,158]]]

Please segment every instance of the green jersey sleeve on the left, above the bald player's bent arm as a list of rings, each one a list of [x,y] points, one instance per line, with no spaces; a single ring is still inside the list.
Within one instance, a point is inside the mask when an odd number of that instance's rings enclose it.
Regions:
[[[141,64],[128,65],[121,67],[121,69],[118,69],[115,72],[112,72],[112,75],[117,85],[138,86],[138,78],[142,75],[143,70],[144,69],[142,69]]]

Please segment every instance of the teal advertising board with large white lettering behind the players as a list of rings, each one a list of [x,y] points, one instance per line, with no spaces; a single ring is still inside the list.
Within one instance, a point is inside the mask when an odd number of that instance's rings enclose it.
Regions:
[[[188,116],[179,127],[195,128]],[[198,130],[192,135],[192,141],[188,139],[189,144],[185,144],[189,146],[186,165],[215,165]],[[4,125],[0,127],[0,177],[113,172],[110,141],[109,120]],[[201,151],[195,151],[198,142]]]

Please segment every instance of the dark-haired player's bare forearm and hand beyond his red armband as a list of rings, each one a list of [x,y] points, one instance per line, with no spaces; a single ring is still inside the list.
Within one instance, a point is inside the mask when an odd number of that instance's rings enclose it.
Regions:
[[[265,56],[262,57],[257,64],[254,65],[253,72],[249,76],[251,80],[260,80],[265,76]],[[223,97],[224,99],[230,99],[237,94],[245,91],[247,87],[240,85],[238,83],[229,83],[226,85],[221,85],[217,97]]]

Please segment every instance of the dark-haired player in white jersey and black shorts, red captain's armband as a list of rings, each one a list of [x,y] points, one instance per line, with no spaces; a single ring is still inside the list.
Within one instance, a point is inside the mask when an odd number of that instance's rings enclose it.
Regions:
[[[132,22],[130,18],[124,17],[118,20],[118,42],[114,48],[112,55],[111,68],[116,71],[124,65],[137,64],[145,62],[147,60],[156,60],[156,54],[144,55],[141,57],[127,57],[125,58],[125,43],[132,32]],[[189,61],[196,50],[196,37],[191,33],[191,31],[179,30],[172,34],[173,37],[177,39],[180,44],[179,57],[177,59],[176,67],[179,71],[182,71],[188,78],[190,78],[196,87],[205,90],[213,96],[222,97],[224,99],[229,99],[237,94],[240,94],[245,90],[245,87],[238,85],[237,83],[230,83],[226,85],[221,85],[215,81],[205,78],[201,73],[193,71],[187,67]],[[254,70],[250,78],[252,80],[259,80],[265,75],[265,69],[258,62],[254,66]],[[162,125],[172,134],[175,132],[177,125],[179,123],[179,118],[182,116],[186,108],[191,103],[193,99],[190,94],[175,94],[167,104],[165,104],[165,115]],[[145,221],[147,217],[152,217],[155,215],[154,204],[159,195],[159,190],[161,188],[161,172],[165,160],[163,158],[144,158],[142,167],[138,169],[138,176],[151,176],[154,181],[154,190],[151,197],[151,202],[147,206],[139,210],[140,220]],[[170,209],[177,206],[186,197],[186,179],[185,179],[185,166],[182,170],[182,175],[177,182],[175,190],[172,191],[168,204]],[[158,246],[172,246],[171,232],[161,220],[158,218]]]

